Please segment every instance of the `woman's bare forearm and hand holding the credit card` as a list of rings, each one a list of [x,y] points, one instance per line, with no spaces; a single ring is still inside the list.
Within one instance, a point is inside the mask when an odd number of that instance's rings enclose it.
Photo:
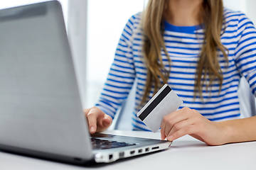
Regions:
[[[207,145],[256,140],[256,116],[238,120],[212,122],[190,108],[182,108],[164,117],[161,139],[176,140],[191,135]]]

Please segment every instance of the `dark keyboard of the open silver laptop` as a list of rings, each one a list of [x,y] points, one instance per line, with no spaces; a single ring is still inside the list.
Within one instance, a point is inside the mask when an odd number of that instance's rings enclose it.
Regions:
[[[117,147],[128,147],[136,144],[129,144],[127,142],[117,142],[114,140],[101,140],[95,137],[91,137],[93,149],[110,149]]]

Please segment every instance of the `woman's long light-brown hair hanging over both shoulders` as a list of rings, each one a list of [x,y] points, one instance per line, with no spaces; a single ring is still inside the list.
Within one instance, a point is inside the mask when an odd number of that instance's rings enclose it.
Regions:
[[[164,45],[164,8],[166,0],[149,0],[146,9],[142,13],[142,29],[144,31],[144,43],[142,50],[144,52],[144,61],[147,68],[146,87],[142,97],[141,106],[144,105],[154,85],[154,94],[162,85],[159,78],[166,84],[169,79],[171,68],[166,70],[163,64],[161,48],[171,62],[171,59]],[[202,97],[202,87],[206,84],[206,75],[210,79],[208,86],[218,78],[220,89],[223,83],[223,73],[218,63],[219,51],[223,53],[226,62],[228,62],[227,50],[220,42],[220,33],[223,27],[223,1],[222,0],[204,0],[202,4],[204,40],[201,48],[201,55],[196,68],[195,91]],[[171,64],[169,64],[171,67]],[[203,78],[203,84],[201,79]]]

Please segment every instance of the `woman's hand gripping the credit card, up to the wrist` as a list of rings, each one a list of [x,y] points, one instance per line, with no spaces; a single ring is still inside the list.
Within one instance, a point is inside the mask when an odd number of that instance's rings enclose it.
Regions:
[[[225,131],[220,123],[211,122],[187,107],[166,115],[161,123],[162,140],[173,141],[183,135],[191,135],[207,145],[225,144]]]

